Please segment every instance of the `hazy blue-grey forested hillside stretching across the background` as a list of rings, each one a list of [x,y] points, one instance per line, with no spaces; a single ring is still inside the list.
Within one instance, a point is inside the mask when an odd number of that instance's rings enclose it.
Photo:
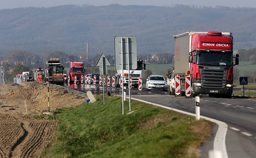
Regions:
[[[0,10],[0,53],[59,50],[80,55],[113,54],[114,37],[137,36],[138,53],[173,53],[173,35],[222,31],[234,35],[234,49],[256,46],[256,9],[65,5]]]

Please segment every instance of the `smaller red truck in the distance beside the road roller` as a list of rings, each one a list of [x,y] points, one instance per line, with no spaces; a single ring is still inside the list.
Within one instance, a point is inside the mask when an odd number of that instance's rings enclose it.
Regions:
[[[70,62],[69,63],[70,82],[69,83],[74,83],[75,76],[76,76],[76,81],[81,82],[81,76],[82,75],[84,76],[84,63]]]

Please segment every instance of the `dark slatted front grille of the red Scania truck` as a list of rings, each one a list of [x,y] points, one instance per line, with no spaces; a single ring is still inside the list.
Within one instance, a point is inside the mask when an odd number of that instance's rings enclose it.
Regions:
[[[227,84],[228,70],[200,69],[203,88],[224,89]]]

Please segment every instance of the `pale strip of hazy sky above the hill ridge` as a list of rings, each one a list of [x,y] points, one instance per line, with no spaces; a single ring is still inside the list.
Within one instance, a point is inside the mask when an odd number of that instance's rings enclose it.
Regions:
[[[172,4],[201,5],[201,6],[228,6],[256,8],[255,0],[0,0],[0,9],[19,7],[52,7],[65,4],[92,4],[95,6],[114,4],[121,5],[155,5],[164,6]]]

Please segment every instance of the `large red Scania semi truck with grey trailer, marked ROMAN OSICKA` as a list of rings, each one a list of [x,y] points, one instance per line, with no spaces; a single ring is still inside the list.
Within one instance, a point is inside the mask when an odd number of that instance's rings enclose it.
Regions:
[[[190,76],[192,97],[230,98],[233,68],[239,64],[239,55],[233,57],[232,33],[186,32],[173,37],[175,60],[174,70],[168,73],[169,94],[174,95],[174,77],[180,76],[181,94],[185,95],[185,76]]]

